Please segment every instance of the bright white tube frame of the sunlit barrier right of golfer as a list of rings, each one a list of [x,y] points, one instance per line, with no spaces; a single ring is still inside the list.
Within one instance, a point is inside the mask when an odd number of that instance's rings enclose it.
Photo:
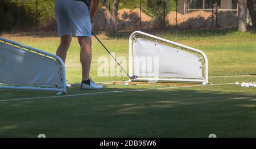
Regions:
[[[134,80],[130,80],[130,81],[137,81],[137,80],[158,80],[158,81],[168,81],[168,82],[197,82],[197,83],[204,83],[204,84],[208,84],[209,80],[208,80],[208,58],[206,56],[206,54],[204,52],[202,52],[199,49],[195,49],[195,48],[191,48],[189,46],[186,45],[182,45],[179,44],[177,42],[173,42],[170,40],[166,40],[166,39],[162,39],[160,37],[154,36],[154,35],[150,35],[148,33],[144,33],[141,31],[135,31],[131,34],[130,39],[129,39],[129,76],[133,76],[133,42],[134,42],[134,37],[137,35],[142,35],[142,36],[146,36],[146,37],[150,37],[151,39],[154,40],[158,40],[158,41],[162,41],[162,42],[166,42],[167,44],[171,44],[171,45],[176,45],[179,46],[181,48],[187,49],[189,51],[195,52],[195,53],[199,53],[201,54],[201,56],[204,58],[204,64],[205,64],[205,78],[204,79],[185,79],[185,78],[137,78]]]

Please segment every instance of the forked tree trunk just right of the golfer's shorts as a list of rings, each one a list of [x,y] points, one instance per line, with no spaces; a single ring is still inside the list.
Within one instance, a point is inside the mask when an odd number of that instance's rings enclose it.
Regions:
[[[112,9],[113,12],[111,14],[106,0],[102,0],[102,11],[106,19],[106,32],[111,34],[117,32],[118,0],[114,0]]]

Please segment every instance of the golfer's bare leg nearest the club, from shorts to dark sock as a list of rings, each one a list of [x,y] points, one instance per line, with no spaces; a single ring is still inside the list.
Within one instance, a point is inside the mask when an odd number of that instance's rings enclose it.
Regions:
[[[81,46],[80,61],[82,64],[82,80],[88,80],[90,76],[90,64],[92,63],[92,39],[91,37],[78,37]]]

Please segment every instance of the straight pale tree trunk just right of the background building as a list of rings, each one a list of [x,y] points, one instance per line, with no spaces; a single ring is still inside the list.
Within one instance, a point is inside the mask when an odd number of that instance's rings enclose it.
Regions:
[[[247,16],[247,0],[238,0],[239,14],[238,14],[238,31],[246,32],[246,16]]]

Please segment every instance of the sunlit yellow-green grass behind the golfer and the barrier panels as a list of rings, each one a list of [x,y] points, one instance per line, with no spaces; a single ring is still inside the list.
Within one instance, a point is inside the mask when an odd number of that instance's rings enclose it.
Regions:
[[[150,32],[156,36],[168,40],[176,41],[181,44],[192,46],[203,50],[209,60],[209,75],[243,75],[256,74],[256,31],[251,30],[246,33],[237,32],[234,29],[200,29],[192,31],[154,31]],[[42,37],[41,37],[42,36]],[[119,35],[106,37],[99,35],[100,39],[116,57],[128,57],[130,33],[120,33]],[[38,49],[55,53],[59,44],[59,38],[47,37],[40,33],[35,35],[8,36],[8,39],[21,42]],[[73,38],[71,48],[67,57],[67,79],[71,83],[81,81],[81,66],[79,57],[79,44]],[[126,80],[124,77],[98,77],[97,69],[99,57],[110,59],[105,49],[93,39],[93,62],[91,76],[96,82],[106,80]],[[127,58],[128,62],[128,58]],[[118,67],[116,65],[116,67]]]

